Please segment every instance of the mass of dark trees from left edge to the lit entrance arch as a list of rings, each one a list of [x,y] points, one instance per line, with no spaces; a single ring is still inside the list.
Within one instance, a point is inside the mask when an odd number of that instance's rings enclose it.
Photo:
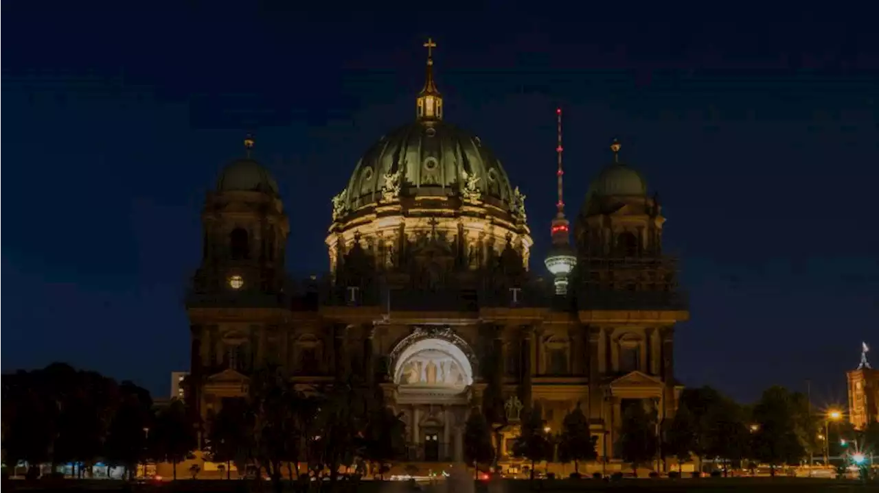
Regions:
[[[403,421],[380,390],[358,382],[313,390],[296,389],[280,368],[264,368],[251,375],[246,397],[223,399],[201,419],[189,399],[156,407],[132,382],[66,364],[0,375],[0,472],[13,475],[24,463],[25,477],[37,478],[41,465],[60,475],[58,466],[69,464],[82,478],[100,462],[132,479],[140,464],[167,462],[177,479],[178,463],[200,450],[227,478],[235,466],[280,490],[285,471],[335,481],[340,467],[355,464],[360,474],[381,475],[405,455]]]

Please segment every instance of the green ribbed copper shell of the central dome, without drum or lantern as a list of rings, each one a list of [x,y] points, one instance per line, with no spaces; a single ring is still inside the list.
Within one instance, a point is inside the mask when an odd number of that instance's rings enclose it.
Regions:
[[[395,186],[399,197],[473,196],[512,211],[500,161],[476,135],[441,120],[404,125],[370,147],[348,181],[345,209],[381,203]]]

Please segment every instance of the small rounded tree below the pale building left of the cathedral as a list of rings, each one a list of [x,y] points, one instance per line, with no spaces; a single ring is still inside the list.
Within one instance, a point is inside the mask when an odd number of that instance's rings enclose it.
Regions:
[[[155,425],[149,430],[149,447],[159,461],[171,462],[173,479],[177,480],[177,464],[189,458],[198,446],[190,412],[183,401],[175,399],[159,412]]]

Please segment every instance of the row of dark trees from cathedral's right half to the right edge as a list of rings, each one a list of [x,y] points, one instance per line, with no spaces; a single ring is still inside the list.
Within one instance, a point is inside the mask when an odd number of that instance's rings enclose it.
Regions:
[[[806,396],[774,386],[754,404],[738,404],[716,389],[684,389],[678,410],[670,419],[659,419],[654,407],[628,405],[622,412],[615,443],[607,452],[637,468],[658,468],[668,460],[678,464],[703,461],[728,475],[731,469],[755,469],[763,464],[775,475],[777,468],[808,464],[823,456],[870,455],[879,445],[879,424],[855,430],[841,411],[813,408]],[[541,461],[593,461],[598,437],[592,435],[579,405],[563,420],[562,430],[551,434],[540,418],[540,409],[527,412],[513,454],[534,465]],[[840,467],[848,461],[837,462]]]

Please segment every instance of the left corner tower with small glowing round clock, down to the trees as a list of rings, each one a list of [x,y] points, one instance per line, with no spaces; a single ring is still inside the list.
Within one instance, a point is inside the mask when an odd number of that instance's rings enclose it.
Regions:
[[[289,318],[284,250],[289,224],[272,175],[251,156],[232,161],[207,193],[203,246],[186,298],[192,348],[190,382],[202,418],[222,397],[243,394],[266,361],[283,361],[281,327]]]

